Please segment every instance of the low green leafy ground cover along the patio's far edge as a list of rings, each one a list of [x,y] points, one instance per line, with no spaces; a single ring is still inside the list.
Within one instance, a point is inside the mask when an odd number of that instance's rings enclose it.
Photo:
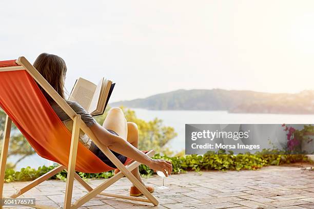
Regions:
[[[224,151],[219,151],[220,154],[207,153],[205,155],[186,155],[182,157],[168,157],[156,154],[153,158],[155,159],[165,159],[172,162],[173,173],[180,174],[186,171],[196,171],[201,170],[256,170],[267,165],[280,165],[285,163],[293,162],[310,162],[305,155],[284,155],[284,154],[272,154],[268,151],[267,154],[260,153],[258,155],[252,154],[241,154],[241,155],[227,155]],[[29,181],[34,180],[45,173],[54,169],[55,166],[41,166],[37,170],[31,169],[29,166],[27,168],[21,169],[21,171],[14,171],[13,169],[7,169],[5,174],[5,181]],[[153,171],[146,165],[139,166],[140,173],[144,177],[153,175]],[[113,176],[113,171],[103,172],[103,173],[82,173],[77,172],[82,178],[110,178]],[[67,173],[62,171],[51,179],[61,179],[66,180]]]

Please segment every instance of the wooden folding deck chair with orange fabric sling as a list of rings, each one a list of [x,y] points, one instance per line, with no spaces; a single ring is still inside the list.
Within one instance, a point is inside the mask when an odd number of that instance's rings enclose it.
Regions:
[[[70,133],[55,114],[49,102],[38,88],[40,85],[54,101],[73,120],[73,131]],[[119,161],[112,152],[103,145],[82,121],[67,102],[49,85],[44,77],[29,63],[25,57],[16,60],[0,61],[0,107],[7,114],[2,153],[0,159],[0,199],[3,198],[5,168],[9,147],[12,121],[28,140],[38,155],[58,164],[49,173],[35,179],[27,186],[7,198],[17,198],[34,186],[44,182],[62,170],[67,171],[64,208],[78,208],[96,195],[103,195],[128,200],[142,201],[158,205],[158,200],[130,172],[140,165],[139,162],[127,158],[126,163]],[[101,151],[120,170],[104,183],[92,188],[75,173],[100,173],[113,168],[105,164],[92,152],[78,142],[80,129],[84,131]],[[154,151],[146,152],[152,156]],[[114,182],[126,176],[146,197],[131,197],[103,192]],[[76,179],[88,191],[86,195],[71,204],[73,181]],[[35,208],[54,208],[46,205],[27,205]],[[0,208],[2,206],[0,205]]]

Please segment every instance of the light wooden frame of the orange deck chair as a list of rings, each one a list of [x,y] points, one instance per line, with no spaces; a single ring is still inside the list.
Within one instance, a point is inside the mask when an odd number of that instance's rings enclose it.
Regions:
[[[18,190],[10,197],[6,197],[6,198],[17,198],[18,196],[32,189],[34,186],[54,176],[58,172],[61,172],[62,170],[66,170],[68,173],[65,200],[64,200],[64,208],[66,209],[78,208],[81,205],[88,202],[91,198],[95,197],[96,195],[103,195],[103,196],[122,198],[122,199],[127,199],[127,200],[148,202],[148,203],[152,203],[153,205],[159,204],[158,200],[145,188],[145,186],[138,179],[136,179],[132,173],[130,173],[132,170],[134,170],[141,164],[140,162],[134,161],[127,166],[123,165],[123,163],[119,159],[117,159],[112,154],[112,152],[95,137],[95,135],[91,132],[91,130],[86,126],[86,124],[81,119],[81,115],[77,115],[73,111],[73,109],[68,105],[68,103],[49,85],[49,83],[45,80],[45,78],[30,64],[30,62],[25,57],[23,56],[19,57],[16,60],[16,63],[19,66],[0,68],[0,72],[12,71],[12,70],[26,70],[74,122],[73,122],[68,167],[64,165],[59,165],[55,169],[35,179],[34,181],[30,182],[27,186]],[[0,163],[1,163],[0,164],[0,200],[3,198],[4,176],[5,176],[5,169],[6,169],[8,148],[9,148],[11,124],[12,124],[12,120],[9,118],[9,116],[7,116],[6,123],[5,123],[2,153],[1,153],[1,158],[0,158]],[[99,147],[100,150],[113,162],[113,164],[117,167],[117,169],[120,170],[119,173],[105,180],[104,183],[100,184],[94,189],[88,183],[86,183],[79,175],[75,173],[78,134],[79,134],[80,129],[89,136],[89,138],[97,145],[97,147]],[[154,155],[154,151],[151,150],[146,154],[151,157]],[[110,194],[110,193],[103,192],[105,189],[107,189],[107,187],[112,185],[117,180],[121,179],[123,176],[126,176],[136,187],[138,187],[138,189],[146,198],[131,197],[131,196],[117,195],[117,194]],[[82,184],[85,187],[85,189],[88,191],[88,193],[84,195],[83,197],[81,197],[80,199],[78,199],[77,201],[75,201],[74,204],[71,205],[74,179],[76,179],[80,184]],[[46,205],[27,205],[27,206],[35,207],[35,208],[54,208],[54,207],[46,206]],[[2,208],[2,205],[0,205],[0,209],[1,208]]]

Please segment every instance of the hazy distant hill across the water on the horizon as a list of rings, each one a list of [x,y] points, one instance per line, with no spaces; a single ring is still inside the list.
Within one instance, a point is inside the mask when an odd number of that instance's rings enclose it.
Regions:
[[[110,103],[149,110],[225,110],[230,113],[314,114],[314,91],[273,94],[235,90],[177,90]]]

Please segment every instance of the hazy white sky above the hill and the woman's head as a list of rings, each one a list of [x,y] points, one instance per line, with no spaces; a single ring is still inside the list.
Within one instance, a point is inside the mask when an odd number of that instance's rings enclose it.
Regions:
[[[314,1],[1,1],[0,60],[42,52],[111,101],[177,89],[314,89]]]

